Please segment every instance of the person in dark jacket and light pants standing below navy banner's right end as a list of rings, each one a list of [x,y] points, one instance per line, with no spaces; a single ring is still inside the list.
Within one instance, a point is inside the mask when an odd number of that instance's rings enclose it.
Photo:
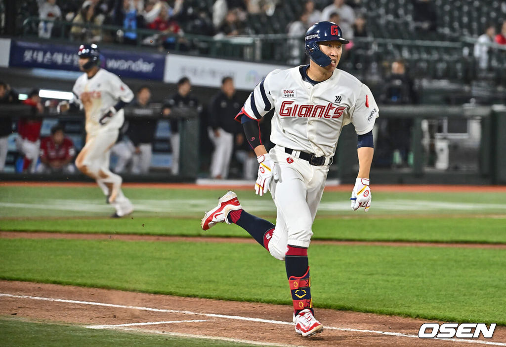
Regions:
[[[199,117],[203,116],[203,107],[200,102],[190,95],[191,82],[188,77],[182,77],[178,81],[178,92],[167,99],[162,108],[162,115],[168,117],[175,107],[195,108]],[[180,154],[180,129],[178,119],[171,119],[171,147],[172,147],[172,174],[179,174],[179,154]]]

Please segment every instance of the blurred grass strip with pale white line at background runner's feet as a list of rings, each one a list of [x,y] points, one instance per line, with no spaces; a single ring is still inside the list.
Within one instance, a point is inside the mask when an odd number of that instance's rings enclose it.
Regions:
[[[463,188],[465,189],[465,188]],[[137,208],[138,216],[199,217],[212,208],[225,193],[217,190],[128,189],[125,194]],[[354,215],[349,208],[350,194],[326,192],[319,207],[320,215]],[[240,192],[241,204],[250,212],[273,215],[274,204],[269,197],[255,196],[253,190]],[[506,209],[503,193],[451,192],[406,193],[376,192],[368,215],[391,213],[444,214],[502,213]],[[183,202],[183,203],[182,203]],[[107,216],[111,206],[97,187],[0,187],[0,217],[22,216]]]

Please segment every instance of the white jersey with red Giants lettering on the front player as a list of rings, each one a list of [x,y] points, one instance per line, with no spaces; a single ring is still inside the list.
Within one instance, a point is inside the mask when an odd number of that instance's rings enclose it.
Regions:
[[[299,68],[270,72],[244,103],[246,115],[257,120],[275,108],[273,143],[331,157],[345,125],[353,123],[358,135],[372,130],[378,106],[365,84],[336,69],[313,86],[303,80]]]

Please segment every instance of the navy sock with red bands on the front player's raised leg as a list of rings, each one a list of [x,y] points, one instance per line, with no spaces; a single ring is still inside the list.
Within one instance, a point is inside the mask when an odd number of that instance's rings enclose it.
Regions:
[[[229,222],[242,227],[259,244],[269,250],[268,245],[274,231],[274,224],[268,220],[249,214],[244,210],[232,211],[227,218]]]

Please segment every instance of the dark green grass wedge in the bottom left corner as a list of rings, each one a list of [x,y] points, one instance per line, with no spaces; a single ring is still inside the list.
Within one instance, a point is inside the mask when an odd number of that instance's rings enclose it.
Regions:
[[[24,319],[0,318],[0,344],[3,347],[117,347],[118,345],[152,347],[252,347],[254,344],[220,341],[176,334],[158,335],[142,330],[86,329],[80,325],[30,322]]]

